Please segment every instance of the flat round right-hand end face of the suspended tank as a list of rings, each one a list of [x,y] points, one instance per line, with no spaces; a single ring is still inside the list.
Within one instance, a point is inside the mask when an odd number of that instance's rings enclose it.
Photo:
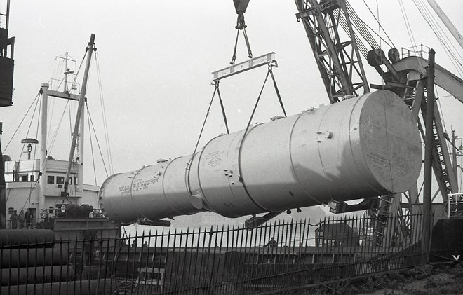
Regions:
[[[408,191],[422,165],[422,144],[408,106],[394,92],[366,98],[360,115],[360,142],[370,173],[390,193]]]

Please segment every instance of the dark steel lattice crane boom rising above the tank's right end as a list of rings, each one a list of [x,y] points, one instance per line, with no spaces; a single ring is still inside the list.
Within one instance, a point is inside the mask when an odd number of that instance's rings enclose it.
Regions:
[[[370,92],[345,0],[295,0],[330,103]],[[349,39],[341,36],[344,27]],[[344,39],[343,39],[344,37]]]

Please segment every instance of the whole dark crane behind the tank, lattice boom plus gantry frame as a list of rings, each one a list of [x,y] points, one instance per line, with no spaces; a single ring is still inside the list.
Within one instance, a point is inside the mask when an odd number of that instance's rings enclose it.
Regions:
[[[437,107],[432,112],[434,114],[432,138],[427,139],[425,136],[426,100],[433,97],[427,93],[428,80],[434,80],[433,85],[435,83],[457,100],[463,102],[462,79],[438,66],[438,64],[435,65],[435,77],[434,75],[429,77],[426,71],[428,60],[416,56],[400,59],[396,48],[391,48],[386,57],[380,46],[377,46],[377,43],[370,36],[365,38],[362,31],[366,26],[362,25],[362,21],[347,0],[295,0],[295,4],[299,11],[296,15],[297,20],[302,22],[307,32],[311,50],[330,103],[339,102],[343,97],[349,97],[349,95],[369,92],[371,87],[391,90],[408,104],[412,116],[417,122],[423,142],[432,150],[431,165],[438,183],[438,191],[432,197],[429,196],[437,204],[432,209],[435,210],[436,217],[445,216],[445,202],[448,201],[448,194],[458,193],[457,173],[454,169],[457,163],[455,160],[452,163],[450,159],[447,144],[449,138],[445,133],[443,120]],[[356,32],[354,32],[353,25]],[[344,29],[345,34],[341,34],[340,27]],[[367,41],[370,50],[367,50],[367,47],[358,39],[359,34]],[[366,57],[368,64],[382,76],[383,85],[368,84],[361,55]],[[383,65],[387,71],[383,71]],[[430,91],[434,92],[434,90]],[[387,226],[387,217],[390,214],[408,214],[422,209],[423,202],[419,200],[420,191],[422,189],[417,184],[408,193],[380,196],[375,203],[370,203],[370,208],[373,207],[373,210],[370,210],[370,215],[375,220],[378,243],[382,240],[381,237],[384,235],[382,231]],[[438,193],[441,193],[444,205],[437,203]]]

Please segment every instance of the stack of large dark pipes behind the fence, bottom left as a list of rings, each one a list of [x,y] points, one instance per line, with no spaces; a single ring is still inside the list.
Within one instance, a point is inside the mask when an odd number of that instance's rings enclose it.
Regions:
[[[101,294],[104,284],[76,275],[66,246],[51,230],[0,231],[0,294]]]

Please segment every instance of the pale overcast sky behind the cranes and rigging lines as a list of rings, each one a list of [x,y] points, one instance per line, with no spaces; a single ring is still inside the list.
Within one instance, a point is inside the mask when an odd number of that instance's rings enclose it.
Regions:
[[[383,27],[399,50],[412,46],[398,1],[366,2],[375,14],[379,11]],[[436,63],[457,74],[413,2],[403,2],[416,43],[435,48]],[[463,1],[440,2],[443,11],[462,32]],[[6,0],[0,0],[1,5],[5,3]],[[351,5],[371,27],[377,28],[363,1],[351,1]],[[274,74],[288,114],[329,103],[303,25],[296,21],[296,12],[293,0],[251,0],[245,15],[254,55],[276,52],[279,67],[274,69]],[[15,92],[14,106],[0,109],[0,121],[4,122],[3,148],[32,104],[41,83],[51,78],[55,56],[68,50],[79,64],[90,34],[95,33],[114,172],[128,172],[152,165],[158,158],[192,153],[213,94],[210,73],[229,65],[235,25],[236,13],[231,0],[11,1],[9,35],[16,37]],[[237,62],[247,59],[243,44],[240,38]],[[462,48],[457,48],[463,55]],[[384,51],[388,49],[384,47]],[[365,67],[368,81],[381,83],[366,62]],[[104,144],[96,68],[93,62],[87,97],[100,144]],[[246,128],[266,71],[256,69],[221,82],[231,131]],[[81,83],[81,78],[78,82]],[[438,94],[445,96],[441,90]],[[462,137],[463,104],[452,97],[442,97],[441,107],[447,131],[451,133],[452,127]],[[60,118],[62,108],[57,102],[56,117]],[[281,109],[269,83],[253,121],[262,123],[274,115],[281,115]],[[27,130],[27,125],[22,129]],[[60,130],[64,130],[65,135],[55,143],[52,154],[65,160],[71,133],[69,122],[62,123]],[[216,101],[203,143],[222,132],[225,128]],[[25,136],[25,132],[18,135],[15,144],[8,147],[6,153],[12,158],[19,157],[18,143]],[[35,131],[28,137],[35,137]],[[93,170],[90,157],[87,152],[86,172]],[[102,171],[100,166],[98,185],[106,176]],[[93,176],[87,175],[86,179]]]

